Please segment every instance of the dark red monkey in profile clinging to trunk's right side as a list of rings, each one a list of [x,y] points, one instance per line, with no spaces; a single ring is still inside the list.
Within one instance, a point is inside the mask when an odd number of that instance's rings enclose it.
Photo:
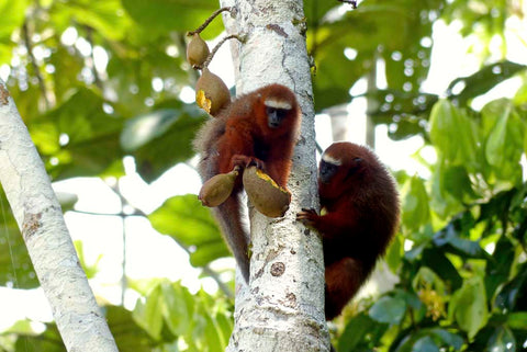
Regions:
[[[335,143],[322,156],[318,193],[324,215],[302,209],[296,219],[322,236],[326,319],[337,317],[384,254],[399,226],[395,182],[367,147]]]

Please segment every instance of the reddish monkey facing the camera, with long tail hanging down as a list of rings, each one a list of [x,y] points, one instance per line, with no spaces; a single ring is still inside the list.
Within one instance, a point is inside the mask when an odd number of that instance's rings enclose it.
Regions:
[[[234,167],[256,164],[285,188],[300,118],[294,93],[284,86],[270,84],[239,96],[209,120],[194,140],[203,182]],[[231,196],[212,209],[248,282],[248,234],[242,225],[240,191],[238,177]]]

